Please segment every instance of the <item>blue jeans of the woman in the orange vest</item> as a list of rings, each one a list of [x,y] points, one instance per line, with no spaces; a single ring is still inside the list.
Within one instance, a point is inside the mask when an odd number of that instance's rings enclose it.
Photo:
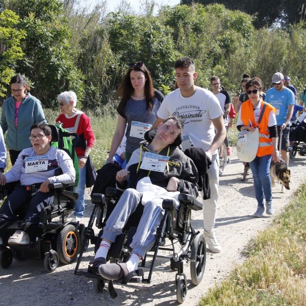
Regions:
[[[266,202],[272,201],[272,188],[270,179],[271,155],[256,157],[250,162],[253,174],[255,196],[258,206],[264,206],[264,195]]]

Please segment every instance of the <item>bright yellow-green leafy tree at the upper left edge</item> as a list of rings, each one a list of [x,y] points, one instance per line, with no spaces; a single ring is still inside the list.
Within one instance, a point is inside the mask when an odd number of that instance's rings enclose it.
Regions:
[[[18,30],[18,16],[4,10],[0,13],[0,98],[7,93],[7,86],[15,73],[17,60],[23,58],[20,41],[25,38],[25,32]]]

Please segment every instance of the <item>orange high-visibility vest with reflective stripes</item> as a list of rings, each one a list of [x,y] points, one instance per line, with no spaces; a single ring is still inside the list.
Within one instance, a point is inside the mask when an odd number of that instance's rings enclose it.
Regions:
[[[261,116],[261,112],[263,110],[265,102],[263,100],[260,100],[260,103],[261,111],[259,117]],[[270,132],[268,128],[268,119],[271,111],[275,113],[275,108],[272,105],[266,103],[266,109],[262,116],[261,122],[257,124],[257,122],[255,122],[255,116],[251,101],[247,100],[241,105],[240,117],[243,122],[243,125],[248,125],[249,120],[251,120],[253,127],[259,128],[259,147],[256,154],[256,156],[258,157],[272,155],[273,153],[272,139],[270,138]]]

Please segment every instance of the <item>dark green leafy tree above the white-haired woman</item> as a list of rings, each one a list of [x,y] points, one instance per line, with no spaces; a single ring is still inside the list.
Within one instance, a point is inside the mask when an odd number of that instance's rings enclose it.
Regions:
[[[19,28],[27,33],[21,44],[24,59],[17,61],[17,72],[31,81],[32,94],[46,107],[64,90],[74,90],[82,98],[82,75],[68,43],[70,32],[62,1],[14,0],[11,5],[20,17]]]

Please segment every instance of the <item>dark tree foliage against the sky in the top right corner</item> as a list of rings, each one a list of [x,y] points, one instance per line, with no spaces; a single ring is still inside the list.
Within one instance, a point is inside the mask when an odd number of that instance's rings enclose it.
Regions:
[[[304,0],[181,0],[181,4],[191,5],[192,3],[223,4],[227,9],[254,15],[256,18],[253,23],[256,28],[270,27],[273,23],[286,27],[288,24],[299,22],[305,18],[302,15]]]

